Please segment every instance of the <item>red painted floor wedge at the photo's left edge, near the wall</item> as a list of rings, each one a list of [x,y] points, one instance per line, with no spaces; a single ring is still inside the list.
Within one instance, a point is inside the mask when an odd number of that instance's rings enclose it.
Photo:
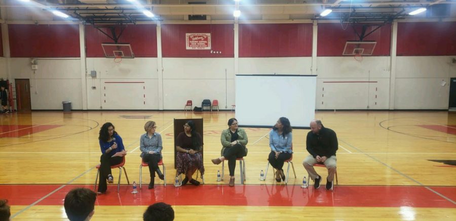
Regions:
[[[53,129],[62,125],[0,125],[0,138],[20,138],[36,132]]]

